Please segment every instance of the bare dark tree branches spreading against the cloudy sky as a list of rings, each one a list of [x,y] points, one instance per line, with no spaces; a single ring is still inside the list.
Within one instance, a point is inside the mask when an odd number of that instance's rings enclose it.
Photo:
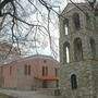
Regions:
[[[70,2],[78,8],[74,0]],[[96,9],[97,0],[86,0],[86,2]],[[54,20],[60,15],[59,4],[60,0],[0,0],[0,41],[10,42],[12,45],[10,51],[16,46],[20,53],[22,49],[27,50],[27,47],[38,52],[40,46],[44,49],[49,45],[57,57],[51,32],[56,32],[58,27]]]

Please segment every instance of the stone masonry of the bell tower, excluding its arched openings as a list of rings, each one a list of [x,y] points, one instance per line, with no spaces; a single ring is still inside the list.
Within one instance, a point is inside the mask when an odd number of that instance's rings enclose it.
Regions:
[[[94,14],[82,3],[77,4],[90,17],[90,24],[87,24],[86,14],[73,4],[68,4],[60,16],[60,87],[62,98],[98,98],[98,30],[94,20]],[[81,28],[74,28],[73,14],[79,14]],[[62,17],[63,15],[63,17]],[[69,19],[69,34],[65,35],[64,20]],[[88,26],[90,25],[90,26]],[[74,40],[82,40],[83,59],[75,60]],[[90,39],[95,40],[95,58]],[[64,59],[64,44],[70,45],[70,62]],[[78,54],[79,57],[79,54]],[[75,74],[77,78],[77,88],[72,89],[71,75]]]

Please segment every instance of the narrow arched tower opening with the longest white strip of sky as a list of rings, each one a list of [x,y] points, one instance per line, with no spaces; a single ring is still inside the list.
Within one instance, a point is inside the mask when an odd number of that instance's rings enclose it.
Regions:
[[[65,63],[70,62],[70,44],[64,42],[63,45],[63,60]]]

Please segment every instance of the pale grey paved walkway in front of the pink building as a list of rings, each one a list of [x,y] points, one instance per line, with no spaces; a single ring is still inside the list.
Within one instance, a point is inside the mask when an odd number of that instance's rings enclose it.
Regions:
[[[59,98],[57,96],[39,94],[38,91],[22,91],[22,90],[0,89],[0,93],[10,95],[10,96],[13,96],[16,98]]]

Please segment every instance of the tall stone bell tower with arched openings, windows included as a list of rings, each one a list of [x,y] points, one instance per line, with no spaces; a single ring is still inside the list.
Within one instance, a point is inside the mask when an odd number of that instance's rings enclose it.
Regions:
[[[61,96],[98,98],[98,14],[69,3],[59,19]]]

